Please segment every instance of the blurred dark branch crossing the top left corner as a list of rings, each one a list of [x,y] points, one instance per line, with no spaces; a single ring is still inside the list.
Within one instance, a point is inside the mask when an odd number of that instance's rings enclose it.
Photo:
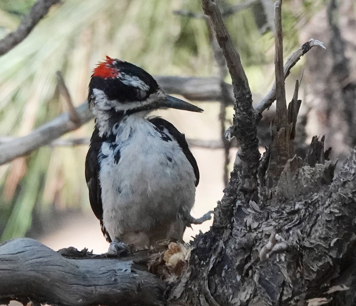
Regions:
[[[25,39],[37,23],[47,14],[49,8],[61,0],[38,0],[30,12],[23,17],[19,27],[0,41],[0,56],[9,52]]]

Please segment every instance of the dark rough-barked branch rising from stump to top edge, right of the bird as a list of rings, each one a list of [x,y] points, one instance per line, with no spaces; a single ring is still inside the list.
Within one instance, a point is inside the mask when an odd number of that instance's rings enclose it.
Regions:
[[[248,195],[250,191],[256,188],[256,173],[260,153],[258,152],[257,128],[255,112],[252,107],[251,90],[248,86],[239,53],[234,48],[227,32],[217,2],[215,0],[202,0],[201,3],[205,14],[210,17],[216,39],[224,53],[236,100],[234,105],[234,126],[229,131],[231,136],[235,136],[240,144],[240,149],[237,153],[239,161],[235,162],[230,182],[225,189],[224,198],[215,211],[213,223],[213,227],[224,228],[231,220],[236,199],[242,199],[244,197],[243,194]],[[237,180],[244,181],[244,185],[236,185]]]

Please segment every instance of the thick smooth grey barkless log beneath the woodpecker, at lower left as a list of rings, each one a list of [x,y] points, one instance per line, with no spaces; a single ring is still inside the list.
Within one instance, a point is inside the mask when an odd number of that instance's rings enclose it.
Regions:
[[[0,303],[164,305],[164,281],[125,259],[68,259],[23,238],[0,246]]]

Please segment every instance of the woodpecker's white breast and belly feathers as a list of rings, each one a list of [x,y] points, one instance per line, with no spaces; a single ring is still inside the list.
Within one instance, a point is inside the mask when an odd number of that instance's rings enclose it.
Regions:
[[[128,116],[113,132],[115,145],[104,142],[99,156],[103,222],[111,239],[189,212],[195,175],[177,141],[162,140],[140,115]]]

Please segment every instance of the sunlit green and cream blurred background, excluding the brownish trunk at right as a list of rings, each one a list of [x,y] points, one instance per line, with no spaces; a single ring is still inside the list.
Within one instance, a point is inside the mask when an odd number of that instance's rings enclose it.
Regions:
[[[300,31],[325,1],[283,2],[284,51],[288,56],[299,47]],[[16,29],[34,3],[0,1],[0,38]],[[64,0],[52,7],[22,43],[0,57],[0,136],[26,135],[67,111],[56,85],[57,70],[62,72],[74,104],[80,105],[87,96],[91,71],[106,55],[139,65],[152,75],[218,75],[206,22],[174,15],[174,10],[202,14],[198,0]],[[268,26],[261,24],[258,10],[250,6],[226,18],[257,99],[268,92],[274,77],[274,38]],[[288,95],[302,64],[303,60],[292,72]],[[159,114],[187,138],[220,139],[219,103],[199,102],[199,107],[205,110],[203,114],[178,110]],[[226,127],[232,114],[231,107]],[[63,138],[89,137],[92,131],[90,122]],[[87,145],[47,146],[0,167],[1,241],[29,236],[54,249],[107,250],[108,243],[89,204],[84,178],[87,151]],[[223,195],[224,152],[194,147],[192,152],[201,178],[192,214],[200,217]],[[231,149],[230,169],[235,153],[236,149]],[[208,221],[193,226],[185,240],[199,230],[209,230],[210,225]]]

